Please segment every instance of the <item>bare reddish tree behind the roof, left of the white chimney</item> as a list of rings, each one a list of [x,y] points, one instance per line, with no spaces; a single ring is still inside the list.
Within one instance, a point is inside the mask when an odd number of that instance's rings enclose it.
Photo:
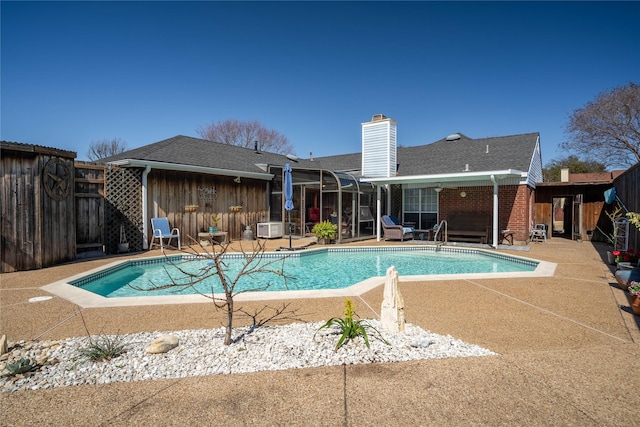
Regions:
[[[257,120],[241,121],[227,119],[198,129],[198,134],[206,140],[239,147],[254,148],[271,153],[293,154],[289,139],[280,132],[267,129]]]

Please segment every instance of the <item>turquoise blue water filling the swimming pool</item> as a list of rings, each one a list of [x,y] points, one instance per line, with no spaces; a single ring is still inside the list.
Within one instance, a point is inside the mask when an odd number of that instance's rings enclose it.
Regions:
[[[283,258],[286,257],[286,258]],[[374,276],[384,276],[387,268],[395,266],[400,276],[463,273],[496,273],[534,271],[537,262],[508,257],[503,254],[476,250],[434,248],[358,248],[314,250],[297,253],[269,254],[262,263],[273,262],[267,268],[290,276],[286,280],[277,274],[256,274],[244,277],[236,291],[268,286],[267,291],[340,289]],[[227,255],[227,276],[235,277],[242,260]],[[195,294],[191,287],[184,289],[150,289],[173,282],[188,283],[188,275],[180,270],[212,275],[212,262],[192,257],[132,260],[100,273],[74,280],[72,285],[108,298]],[[208,273],[207,273],[208,272]],[[195,285],[205,294],[223,292],[219,279],[213,277]]]

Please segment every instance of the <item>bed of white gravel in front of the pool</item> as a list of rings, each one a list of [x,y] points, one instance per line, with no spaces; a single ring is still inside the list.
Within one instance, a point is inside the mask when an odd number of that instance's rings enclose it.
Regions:
[[[381,330],[391,345],[370,334],[371,348],[367,348],[362,339],[357,339],[334,351],[340,331],[325,328],[317,332],[322,323],[262,326],[254,330],[238,328],[234,330],[234,337],[239,339],[230,346],[223,345],[224,328],[120,335],[126,343],[126,353],[102,362],[91,362],[78,355],[78,350],[88,345],[88,337],[10,343],[9,353],[0,359],[0,372],[6,373],[8,363],[23,357],[36,360],[42,366],[31,373],[0,378],[0,390],[12,392],[342,364],[495,355],[476,345],[411,324],[406,325],[404,333],[391,334],[384,332],[378,321],[368,322]],[[177,336],[179,346],[168,353],[147,354],[145,346],[164,334]]]

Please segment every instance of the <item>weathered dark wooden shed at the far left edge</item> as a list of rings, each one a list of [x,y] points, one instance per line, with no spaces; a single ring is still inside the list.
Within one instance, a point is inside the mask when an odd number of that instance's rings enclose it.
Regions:
[[[75,258],[75,157],[72,151],[0,141],[2,273]]]

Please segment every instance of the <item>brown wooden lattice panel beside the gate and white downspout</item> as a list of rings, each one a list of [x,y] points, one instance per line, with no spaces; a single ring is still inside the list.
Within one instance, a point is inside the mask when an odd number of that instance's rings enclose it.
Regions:
[[[120,226],[124,224],[129,251],[142,250],[142,170],[110,167],[106,171],[106,252],[118,252]]]

